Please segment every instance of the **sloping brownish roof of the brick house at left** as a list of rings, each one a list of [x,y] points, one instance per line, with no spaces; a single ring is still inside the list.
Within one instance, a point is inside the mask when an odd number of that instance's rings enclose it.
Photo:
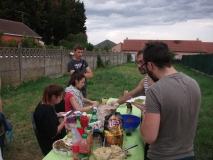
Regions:
[[[32,36],[42,38],[24,23],[0,19],[0,31],[5,35],[13,36]]]

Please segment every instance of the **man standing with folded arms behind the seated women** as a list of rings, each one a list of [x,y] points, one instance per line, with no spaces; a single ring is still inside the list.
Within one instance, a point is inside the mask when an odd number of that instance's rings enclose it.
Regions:
[[[67,70],[72,75],[75,71],[80,71],[84,73],[86,80],[85,85],[82,87],[81,92],[84,96],[84,98],[87,98],[87,78],[92,78],[93,73],[90,69],[87,61],[81,59],[83,55],[83,47],[80,44],[76,44],[73,48],[74,50],[74,56],[73,59],[69,61],[67,65]]]

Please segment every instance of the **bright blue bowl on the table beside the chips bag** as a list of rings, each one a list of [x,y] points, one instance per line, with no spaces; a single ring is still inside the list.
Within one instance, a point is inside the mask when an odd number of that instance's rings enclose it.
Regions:
[[[121,117],[123,118],[123,128],[126,130],[135,130],[141,121],[138,116],[131,114],[122,114]]]

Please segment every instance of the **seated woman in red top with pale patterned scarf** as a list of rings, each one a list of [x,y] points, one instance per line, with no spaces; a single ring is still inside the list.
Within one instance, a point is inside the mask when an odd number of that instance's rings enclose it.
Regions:
[[[84,86],[85,76],[81,72],[75,71],[72,74],[70,81],[68,82],[67,88],[65,89],[65,111],[76,109],[77,111],[87,112],[93,107],[98,107],[98,101],[91,101],[84,98],[80,89]],[[85,107],[85,103],[91,104],[91,106]]]

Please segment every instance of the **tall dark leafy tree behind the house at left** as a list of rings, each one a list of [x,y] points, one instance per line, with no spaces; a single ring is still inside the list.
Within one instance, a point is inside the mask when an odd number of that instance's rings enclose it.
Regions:
[[[70,33],[86,33],[84,3],[79,0],[1,0],[0,18],[23,21],[45,44],[57,45]]]

